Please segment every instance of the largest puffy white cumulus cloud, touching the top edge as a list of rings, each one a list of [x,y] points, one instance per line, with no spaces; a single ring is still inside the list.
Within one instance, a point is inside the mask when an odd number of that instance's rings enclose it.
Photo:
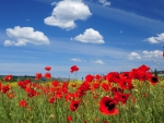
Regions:
[[[51,15],[44,20],[45,24],[65,29],[73,29],[74,21],[86,20],[92,13],[82,0],[63,0],[56,3]]]

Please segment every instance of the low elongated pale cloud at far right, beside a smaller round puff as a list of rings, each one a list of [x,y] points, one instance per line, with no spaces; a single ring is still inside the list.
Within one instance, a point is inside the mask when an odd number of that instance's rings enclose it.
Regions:
[[[143,57],[145,58],[162,58],[162,51],[161,50],[154,50],[154,51],[142,51]]]

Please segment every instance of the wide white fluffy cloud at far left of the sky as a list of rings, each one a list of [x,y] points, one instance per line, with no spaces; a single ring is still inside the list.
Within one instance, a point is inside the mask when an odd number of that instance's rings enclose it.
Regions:
[[[49,39],[44,33],[34,30],[33,27],[7,28],[7,35],[13,40],[5,40],[4,46],[26,46],[26,44],[43,45],[49,44]]]

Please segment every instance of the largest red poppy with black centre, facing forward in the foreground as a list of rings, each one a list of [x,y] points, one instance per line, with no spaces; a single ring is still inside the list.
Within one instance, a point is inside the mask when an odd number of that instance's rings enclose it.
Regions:
[[[118,114],[118,110],[116,109],[117,103],[116,99],[103,97],[99,101],[99,111],[106,115]]]

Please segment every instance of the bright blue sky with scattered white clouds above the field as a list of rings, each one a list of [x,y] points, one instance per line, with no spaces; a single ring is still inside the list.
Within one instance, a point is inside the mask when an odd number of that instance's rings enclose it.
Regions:
[[[163,0],[0,1],[0,75],[164,71],[163,47]]]

